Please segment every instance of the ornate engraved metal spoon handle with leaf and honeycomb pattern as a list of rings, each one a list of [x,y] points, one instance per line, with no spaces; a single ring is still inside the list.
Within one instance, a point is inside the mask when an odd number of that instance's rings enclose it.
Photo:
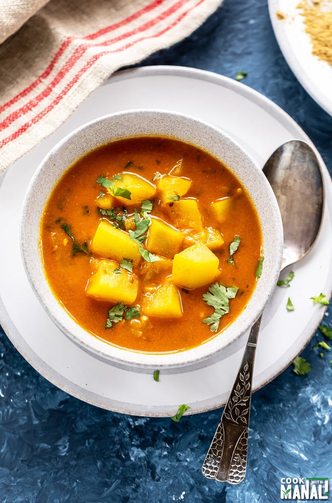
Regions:
[[[207,478],[239,484],[245,476],[250,402],[262,315],[252,326],[241,365],[202,466]]]

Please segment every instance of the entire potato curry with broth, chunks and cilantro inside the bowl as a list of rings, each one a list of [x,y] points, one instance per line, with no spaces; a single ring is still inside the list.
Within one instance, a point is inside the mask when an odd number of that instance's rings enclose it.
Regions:
[[[194,145],[105,144],[56,185],[41,223],[49,285],[77,323],[118,347],[202,344],[245,308],[262,233],[239,181]]]

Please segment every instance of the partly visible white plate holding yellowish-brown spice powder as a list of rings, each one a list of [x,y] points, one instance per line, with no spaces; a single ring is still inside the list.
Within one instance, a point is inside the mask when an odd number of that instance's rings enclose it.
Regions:
[[[268,0],[279,47],[307,93],[332,115],[332,2]]]

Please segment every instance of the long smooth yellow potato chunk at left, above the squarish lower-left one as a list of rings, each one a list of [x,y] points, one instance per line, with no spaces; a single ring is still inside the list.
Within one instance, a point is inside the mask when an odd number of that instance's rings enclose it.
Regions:
[[[108,220],[101,220],[92,240],[91,249],[101,257],[114,259],[131,259],[138,264],[141,255],[138,244],[124,230],[117,229]]]

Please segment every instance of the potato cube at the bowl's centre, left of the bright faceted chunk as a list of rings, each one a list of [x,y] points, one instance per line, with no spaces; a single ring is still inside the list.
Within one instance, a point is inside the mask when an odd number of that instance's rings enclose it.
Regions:
[[[146,238],[146,249],[162,257],[172,259],[180,251],[183,235],[180,230],[160,218],[151,217]]]

